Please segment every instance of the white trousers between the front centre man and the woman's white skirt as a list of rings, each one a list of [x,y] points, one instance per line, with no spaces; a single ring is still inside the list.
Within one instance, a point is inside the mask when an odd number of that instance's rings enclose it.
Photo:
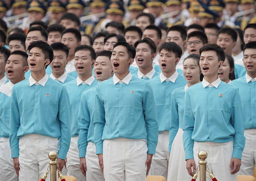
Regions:
[[[159,132],[155,155],[152,158],[149,175],[161,175],[167,178],[169,162],[168,145],[169,131]]]

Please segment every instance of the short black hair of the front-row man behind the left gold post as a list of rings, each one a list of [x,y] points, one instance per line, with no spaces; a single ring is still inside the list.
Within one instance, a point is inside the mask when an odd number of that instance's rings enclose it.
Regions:
[[[30,43],[29,47],[28,47],[28,51],[30,52],[30,50],[32,48],[40,48],[44,54],[44,59],[49,59],[50,63],[53,61],[54,59],[54,51],[52,49],[52,47],[50,45],[48,45],[48,43],[45,43],[42,40],[39,41],[33,41]],[[50,65],[50,63],[48,65]],[[48,67],[48,65],[46,66],[46,68]]]

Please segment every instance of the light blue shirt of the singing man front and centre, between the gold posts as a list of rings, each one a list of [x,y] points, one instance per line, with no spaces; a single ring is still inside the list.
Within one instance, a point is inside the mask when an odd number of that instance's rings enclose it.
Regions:
[[[94,140],[96,154],[103,152],[103,140],[124,137],[148,141],[148,153],[155,154],[158,124],[155,98],[147,81],[115,75],[96,86]]]

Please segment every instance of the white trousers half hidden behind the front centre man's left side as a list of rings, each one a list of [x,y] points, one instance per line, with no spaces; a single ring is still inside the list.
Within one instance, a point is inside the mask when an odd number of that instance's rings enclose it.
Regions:
[[[89,142],[86,148],[86,180],[87,181],[105,181],[99,165],[99,158],[96,155],[96,147],[93,142]]]

